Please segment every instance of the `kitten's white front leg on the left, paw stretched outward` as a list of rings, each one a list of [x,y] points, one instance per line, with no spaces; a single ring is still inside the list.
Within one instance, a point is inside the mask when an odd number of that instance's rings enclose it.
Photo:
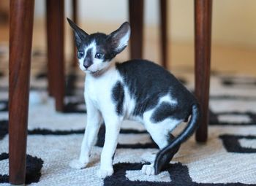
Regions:
[[[87,109],[87,125],[86,131],[83,136],[83,142],[80,148],[79,159],[72,160],[69,166],[72,168],[85,168],[89,163],[89,156],[91,147],[97,139],[97,133],[99,132],[99,126],[102,123],[102,116],[99,110],[91,103],[89,99],[86,99]]]

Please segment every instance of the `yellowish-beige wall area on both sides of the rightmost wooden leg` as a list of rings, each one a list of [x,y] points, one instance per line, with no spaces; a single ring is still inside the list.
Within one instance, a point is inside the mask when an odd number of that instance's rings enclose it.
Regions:
[[[207,0],[206,0],[207,1]],[[173,39],[192,41],[194,1],[173,0],[170,32]],[[212,39],[215,44],[256,47],[256,1],[214,0]]]

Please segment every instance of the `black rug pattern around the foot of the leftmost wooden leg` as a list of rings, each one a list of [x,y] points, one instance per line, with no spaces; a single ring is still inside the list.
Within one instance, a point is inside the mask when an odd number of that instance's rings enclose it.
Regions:
[[[7,153],[1,153],[0,160],[6,160],[9,158]],[[41,177],[41,168],[43,160],[41,158],[33,157],[31,155],[26,155],[26,184],[31,184],[34,182],[39,182]],[[7,174],[0,174],[0,183],[8,183],[9,176]]]

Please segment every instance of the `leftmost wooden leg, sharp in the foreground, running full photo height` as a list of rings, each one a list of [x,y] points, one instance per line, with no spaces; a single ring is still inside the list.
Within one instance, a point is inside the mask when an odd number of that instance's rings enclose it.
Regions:
[[[23,185],[34,0],[10,1],[9,163],[10,183]]]

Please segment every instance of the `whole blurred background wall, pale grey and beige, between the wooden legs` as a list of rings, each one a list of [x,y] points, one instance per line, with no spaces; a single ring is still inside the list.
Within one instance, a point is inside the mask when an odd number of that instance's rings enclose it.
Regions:
[[[146,26],[157,26],[158,1],[144,1]],[[45,11],[44,2],[36,1],[37,17]],[[66,0],[67,16],[70,15],[70,2]],[[169,0],[168,10],[171,39],[193,42],[194,1]],[[80,0],[79,12],[83,23],[119,24],[128,18],[127,0]],[[214,44],[256,48],[256,0],[214,0],[212,26]]]

